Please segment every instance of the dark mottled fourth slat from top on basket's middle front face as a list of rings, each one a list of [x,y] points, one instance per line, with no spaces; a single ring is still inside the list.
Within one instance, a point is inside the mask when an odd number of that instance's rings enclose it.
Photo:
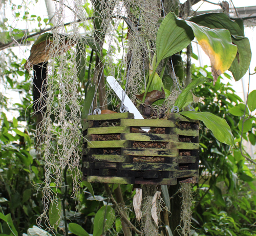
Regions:
[[[167,163],[119,163],[120,169],[130,170],[159,170],[159,171],[174,171],[177,170],[178,164]]]

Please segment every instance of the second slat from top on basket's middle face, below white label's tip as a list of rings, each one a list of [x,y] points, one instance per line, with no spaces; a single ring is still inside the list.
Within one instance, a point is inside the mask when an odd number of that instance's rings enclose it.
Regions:
[[[131,141],[157,141],[157,142],[169,142],[169,141],[178,141],[177,135],[168,135],[168,134],[121,134],[122,140],[131,140]]]

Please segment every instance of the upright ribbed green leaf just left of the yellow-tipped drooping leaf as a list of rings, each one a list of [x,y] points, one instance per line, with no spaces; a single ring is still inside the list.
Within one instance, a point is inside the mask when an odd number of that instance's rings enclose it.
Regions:
[[[180,52],[193,39],[193,31],[186,25],[185,21],[176,17],[173,12],[168,13],[157,32],[157,60],[160,61]]]

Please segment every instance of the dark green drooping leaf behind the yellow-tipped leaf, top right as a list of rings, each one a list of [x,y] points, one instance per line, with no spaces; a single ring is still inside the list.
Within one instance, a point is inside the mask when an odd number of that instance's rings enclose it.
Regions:
[[[249,39],[244,37],[241,27],[233,22],[224,13],[208,13],[190,18],[192,22],[211,29],[227,29],[231,34],[232,43],[238,47],[236,58],[232,62],[229,71],[236,81],[240,80],[248,70],[251,61],[251,49]]]

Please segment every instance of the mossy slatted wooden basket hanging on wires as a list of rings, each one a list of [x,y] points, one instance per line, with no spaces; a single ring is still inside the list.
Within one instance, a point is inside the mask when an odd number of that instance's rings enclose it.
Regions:
[[[140,127],[151,127],[143,133]],[[199,122],[180,114],[136,120],[131,113],[88,116],[83,179],[118,184],[198,182]]]

